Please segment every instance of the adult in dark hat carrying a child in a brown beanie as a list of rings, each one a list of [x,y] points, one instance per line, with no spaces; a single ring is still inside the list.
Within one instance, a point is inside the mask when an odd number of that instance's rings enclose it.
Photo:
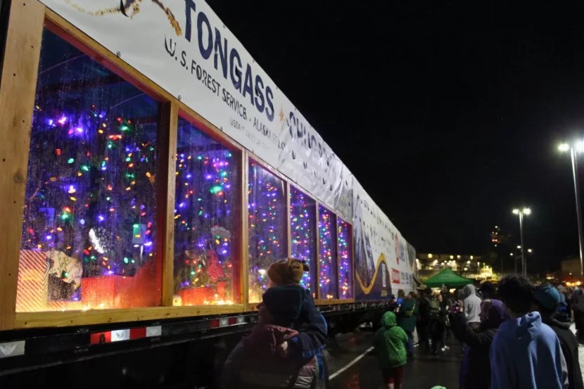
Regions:
[[[229,355],[222,373],[223,389],[314,388],[316,357],[282,356],[279,345],[298,336],[291,329],[305,300],[305,289],[293,285],[268,288],[259,305],[259,321]]]

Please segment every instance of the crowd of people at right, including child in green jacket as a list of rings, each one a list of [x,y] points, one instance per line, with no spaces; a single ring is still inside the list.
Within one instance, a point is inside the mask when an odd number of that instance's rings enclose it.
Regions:
[[[388,388],[401,388],[415,345],[439,355],[450,343],[462,352],[460,389],[584,389],[578,361],[584,285],[572,292],[508,276],[498,288],[485,282],[478,290],[467,285],[451,291],[400,291],[383,315],[374,345]],[[572,312],[577,336],[570,329]],[[381,334],[388,341],[380,342]]]

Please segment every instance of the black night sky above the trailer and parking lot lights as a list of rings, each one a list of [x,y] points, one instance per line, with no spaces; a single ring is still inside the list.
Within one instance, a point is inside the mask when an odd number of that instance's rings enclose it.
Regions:
[[[518,244],[528,205],[531,269],[578,253],[582,2],[208,4],[418,252]]]

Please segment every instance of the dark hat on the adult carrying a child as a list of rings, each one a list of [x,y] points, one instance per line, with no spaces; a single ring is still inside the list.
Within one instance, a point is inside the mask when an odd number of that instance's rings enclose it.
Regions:
[[[284,285],[268,288],[262,296],[267,311],[281,324],[291,324],[300,316],[306,291],[299,285]]]

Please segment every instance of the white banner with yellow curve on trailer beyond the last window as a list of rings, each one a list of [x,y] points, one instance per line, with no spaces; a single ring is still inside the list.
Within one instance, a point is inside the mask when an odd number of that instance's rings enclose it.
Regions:
[[[376,279],[381,272],[382,284],[385,283],[382,266],[385,263],[392,293],[397,295],[399,289],[410,291],[413,286],[414,268],[408,253],[407,241],[355,177],[353,177],[353,231],[357,288],[360,287],[365,295],[381,293],[376,291],[376,288],[379,288],[379,282],[376,286]]]

